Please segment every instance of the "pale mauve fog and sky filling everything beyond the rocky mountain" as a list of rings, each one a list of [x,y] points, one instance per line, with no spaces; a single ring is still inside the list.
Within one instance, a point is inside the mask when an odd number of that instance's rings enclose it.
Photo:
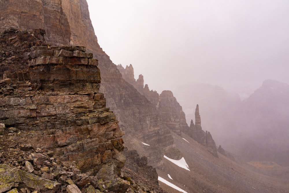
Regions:
[[[114,64],[173,91],[188,123],[199,104],[217,145],[289,166],[288,0],[87,2]]]

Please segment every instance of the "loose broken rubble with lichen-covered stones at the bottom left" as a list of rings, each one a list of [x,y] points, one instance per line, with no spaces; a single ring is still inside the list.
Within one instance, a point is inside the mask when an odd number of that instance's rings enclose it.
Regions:
[[[2,125],[3,126],[3,125]],[[3,129],[0,125],[0,127]],[[20,131],[4,128],[2,134],[14,136]],[[3,139],[3,137],[2,137]],[[130,182],[123,178],[98,179],[93,169],[79,170],[75,161],[56,161],[51,150],[33,149],[17,141],[0,141],[0,192],[126,192]]]

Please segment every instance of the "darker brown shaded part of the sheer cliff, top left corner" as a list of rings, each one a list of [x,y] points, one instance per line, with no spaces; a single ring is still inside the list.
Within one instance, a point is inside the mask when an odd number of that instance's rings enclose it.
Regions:
[[[71,29],[60,8],[60,0],[12,0],[1,1],[0,4],[1,31],[9,27],[28,31],[41,28],[46,30],[45,38],[49,39],[51,44],[58,42],[59,45],[69,45]]]

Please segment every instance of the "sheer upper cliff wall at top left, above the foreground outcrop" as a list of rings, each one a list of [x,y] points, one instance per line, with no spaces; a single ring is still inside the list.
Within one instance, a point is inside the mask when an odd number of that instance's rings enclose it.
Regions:
[[[0,5],[0,31],[41,28],[51,45],[85,45],[89,52],[102,52],[85,0],[10,0]]]

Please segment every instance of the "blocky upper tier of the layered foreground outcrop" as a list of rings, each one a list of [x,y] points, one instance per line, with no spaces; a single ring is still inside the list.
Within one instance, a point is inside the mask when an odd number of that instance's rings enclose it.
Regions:
[[[100,71],[98,60],[86,53],[83,46],[38,46],[25,53],[32,84],[41,84],[43,91],[65,94],[98,93]],[[84,94],[83,93],[83,94]]]

